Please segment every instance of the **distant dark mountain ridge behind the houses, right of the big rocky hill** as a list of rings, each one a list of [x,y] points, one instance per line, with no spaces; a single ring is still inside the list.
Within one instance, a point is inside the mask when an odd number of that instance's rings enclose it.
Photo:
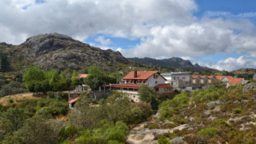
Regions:
[[[207,68],[203,66],[199,66],[198,63],[193,65],[190,60],[183,60],[182,58],[168,58],[168,59],[162,59],[162,60],[157,60],[154,58],[128,58],[128,60],[135,61],[136,63],[141,63],[144,65],[149,65],[149,66],[162,66],[162,67],[172,67],[172,68],[179,68],[184,71],[211,71],[211,72],[216,72],[218,70],[213,69],[213,68]]]

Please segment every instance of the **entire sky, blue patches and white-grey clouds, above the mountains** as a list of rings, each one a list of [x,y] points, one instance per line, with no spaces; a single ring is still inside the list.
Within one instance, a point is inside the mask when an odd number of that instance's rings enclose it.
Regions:
[[[2,0],[0,42],[58,32],[127,58],[256,68],[255,0]]]

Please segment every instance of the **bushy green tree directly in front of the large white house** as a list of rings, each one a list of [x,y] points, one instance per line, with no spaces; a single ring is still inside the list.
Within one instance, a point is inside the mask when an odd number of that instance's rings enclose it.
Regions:
[[[138,88],[138,95],[140,101],[151,104],[151,109],[158,109],[158,102],[156,101],[156,93],[154,89],[143,84]]]

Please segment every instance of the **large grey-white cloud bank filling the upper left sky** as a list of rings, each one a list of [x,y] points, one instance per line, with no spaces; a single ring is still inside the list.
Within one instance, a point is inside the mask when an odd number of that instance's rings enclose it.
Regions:
[[[27,8],[23,9],[24,6]],[[146,37],[146,31],[154,25],[190,22],[195,9],[192,0],[48,0],[43,4],[32,0],[3,0],[0,27],[14,37],[59,32],[71,37],[105,33],[133,39]],[[0,40],[23,42],[5,35],[0,35]]]

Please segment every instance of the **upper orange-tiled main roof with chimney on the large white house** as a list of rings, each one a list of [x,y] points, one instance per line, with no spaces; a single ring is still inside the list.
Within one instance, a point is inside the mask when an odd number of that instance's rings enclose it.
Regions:
[[[141,80],[146,80],[146,79],[148,79],[150,76],[152,76],[155,73],[159,73],[159,72],[158,71],[137,71],[137,77],[134,78],[134,71],[131,71],[130,73],[128,73],[128,75],[126,75],[122,79],[141,79]]]

